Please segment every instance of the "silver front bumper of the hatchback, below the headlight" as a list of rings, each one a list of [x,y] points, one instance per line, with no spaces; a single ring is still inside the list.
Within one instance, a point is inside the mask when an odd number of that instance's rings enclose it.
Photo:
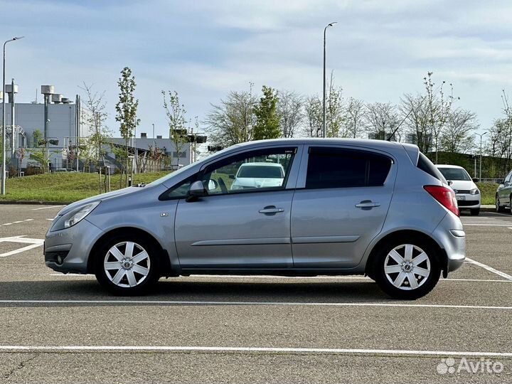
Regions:
[[[102,231],[83,219],[73,227],[46,233],[45,264],[63,273],[87,273],[87,261],[92,245]]]

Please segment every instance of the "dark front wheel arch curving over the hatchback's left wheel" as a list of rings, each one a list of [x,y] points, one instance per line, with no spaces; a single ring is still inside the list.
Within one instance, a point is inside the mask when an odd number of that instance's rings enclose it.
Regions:
[[[114,228],[112,230],[109,230],[108,232],[104,233],[100,238],[98,238],[95,242],[95,244],[92,246],[89,257],[87,257],[87,273],[94,273],[95,271],[95,260],[96,260],[96,253],[97,250],[102,246],[102,244],[109,240],[110,238],[113,238],[117,235],[127,235],[130,236],[141,236],[145,238],[146,240],[149,240],[153,243],[153,245],[156,247],[157,252],[159,253],[160,260],[162,262],[162,271],[161,276],[174,276],[176,275],[175,272],[173,272],[171,267],[171,261],[169,260],[169,254],[165,250],[164,247],[161,246],[160,242],[156,240],[156,238],[151,235],[150,233],[146,232],[145,230],[142,230],[140,228],[134,228],[134,227],[120,227],[120,228]]]

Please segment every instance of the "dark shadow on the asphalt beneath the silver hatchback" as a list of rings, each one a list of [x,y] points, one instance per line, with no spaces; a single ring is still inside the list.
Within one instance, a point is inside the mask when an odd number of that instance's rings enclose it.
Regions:
[[[9,301],[15,301],[9,303]],[[116,297],[108,294],[92,279],[65,281],[0,282],[0,306],[39,305],[38,301],[102,301],[139,300],[169,302],[169,305],[210,305],[211,302],[375,302],[390,301],[370,280],[363,282],[198,282],[180,279],[162,279],[145,296]],[[26,302],[23,301],[33,301]],[[41,303],[61,305],[65,303]],[[72,303],[82,305],[82,303]],[[101,304],[101,303],[99,303]],[[112,303],[108,303],[112,304]],[[165,304],[165,303],[164,303]],[[223,303],[224,304],[224,303]],[[68,304],[65,304],[68,305]],[[83,305],[87,305],[86,302]]]

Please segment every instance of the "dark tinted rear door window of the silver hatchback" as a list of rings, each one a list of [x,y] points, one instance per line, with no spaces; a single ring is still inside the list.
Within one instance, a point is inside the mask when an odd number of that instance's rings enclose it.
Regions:
[[[311,147],[306,188],[382,186],[392,161],[367,151]]]

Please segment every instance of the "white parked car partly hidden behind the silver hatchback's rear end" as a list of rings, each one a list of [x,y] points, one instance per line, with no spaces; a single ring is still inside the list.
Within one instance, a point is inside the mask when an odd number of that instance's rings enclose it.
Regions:
[[[469,209],[471,215],[478,215],[480,213],[481,193],[474,183],[478,179],[471,178],[462,166],[437,165],[437,169],[441,171],[454,190],[459,209]]]

